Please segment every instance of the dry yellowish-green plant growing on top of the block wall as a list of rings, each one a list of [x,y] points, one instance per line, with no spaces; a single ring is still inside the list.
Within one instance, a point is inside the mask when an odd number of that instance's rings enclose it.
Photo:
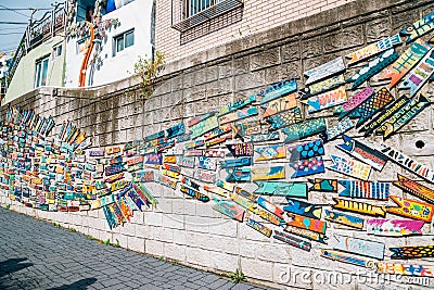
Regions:
[[[135,75],[141,78],[140,85],[143,88],[141,98],[143,100],[148,100],[152,96],[156,76],[164,70],[164,64],[165,56],[158,51],[155,51],[154,60],[139,56],[135,63]]]

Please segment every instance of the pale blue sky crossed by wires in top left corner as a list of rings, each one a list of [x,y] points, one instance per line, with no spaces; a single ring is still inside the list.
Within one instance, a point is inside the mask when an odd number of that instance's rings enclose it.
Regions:
[[[34,20],[41,18],[54,0],[0,0],[0,53],[15,50],[22,39],[28,24],[29,8],[40,9],[34,14]],[[58,2],[63,2],[58,0]],[[20,9],[20,10],[8,10]],[[25,24],[4,24],[4,22],[16,22]]]

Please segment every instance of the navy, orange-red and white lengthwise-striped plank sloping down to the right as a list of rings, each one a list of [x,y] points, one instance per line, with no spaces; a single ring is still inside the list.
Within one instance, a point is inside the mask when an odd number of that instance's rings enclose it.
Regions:
[[[346,135],[343,135],[342,139],[344,143],[336,144],[337,149],[372,166],[375,171],[381,172],[386,165],[388,159],[380,151]]]

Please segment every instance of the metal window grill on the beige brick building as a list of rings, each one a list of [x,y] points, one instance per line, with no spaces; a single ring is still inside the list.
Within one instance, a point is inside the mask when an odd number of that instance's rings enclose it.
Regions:
[[[212,20],[225,15],[233,10],[242,10],[243,0],[214,0],[205,1],[208,3],[206,9],[201,7],[201,11],[192,13],[192,1],[196,0],[173,0],[171,1],[171,27],[186,33],[204,23],[209,23]],[[191,15],[191,16],[189,16]]]

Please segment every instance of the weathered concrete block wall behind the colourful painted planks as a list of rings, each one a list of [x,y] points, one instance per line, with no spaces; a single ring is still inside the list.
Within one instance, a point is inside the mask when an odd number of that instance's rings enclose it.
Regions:
[[[355,3],[363,7],[363,2]],[[154,94],[144,102],[138,100],[140,88],[136,86],[137,79],[129,79],[98,91],[40,89],[17,99],[11,105],[35,108],[42,115],[53,115],[58,123],[55,133],[59,131],[62,121],[74,121],[92,137],[95,148],[124,144],[218,109],[240,94],[248,96],[282,78],[295,75],[298,87],[303,88],[304,71],[394,35],[422,15],[434,11],[434,3],[431,1],[391,2],[384,8],[382,5],[385,1],[370,1],[369,5],[363,7],[370,9],[370,12],[359,11],[362,16],[354,16],[349,11],[348,18],[334,25],[318,22],[317,26],[301,28],[298,34],[293,34],[290,28],[281,28],[279,39],[273,41],[266,40],[268,31],[258,34],[252,36],[257,46],[248,49],[243,47],[243,40],[234,41],[231,46],[226,46],[226,50],[233,53],[227,53],[224,58],[213,58],[216,54],[203,52],[195,58],[206,61],[194,65],[187,65],[194,61],[190,58],[169,63],[167,74],[162,76]],[[348,10],[353,5],[348,4]],[[337,12],[332,10],[329,15]],[[321,15],[320,13],[318,17],[321,18]],[[322,20],[324,18],[327,17]],[[302,27],[303,23],[306,21],[302,20],[293,25]],[[357,67],[348,70],[346,76],[352,75],[355,70]],[[386,84],[375,78],[369,81],[375,89]],[[432,96],[433,83],[425,85],[423,91]],[[403,92],[393,90],[393,93],[398,96]],[[2,108],[2,116],[4,110],[5,108]],[[306,115],[306,112],[304,113]],[[332,121],[330,110],[315,116],[320,115]],[[387,143],[434,168],[434,144],[431,138],[434,129],[433,117],[432,109],[426,109],[406,125],[400,134],[387,140]],[[417,140],[424,141],[425,147],[418,149]],[[370,137],[367,141],[378,143],[381,138]],[[340,141],[327,144],[327,154],[336,152],[334,148],[337,142]],[[330,160],[326,162],[330,164]],[[381,173],[373,172],[370,179],[392,181],[396,179],[396,173],[420,180],[392,162],[388,162]],[[286,177],[289,178],[289,175]],[[315,177],[346,178],[331,171]],[[340,289],[424,288],[425,281],[404,278],[399,280],[396,277],[390,277],[391,280],[383,283],[363,281],[363,277],[369,274],[361,273],[362,268],[319,256],[320,248],[333,248],[332,239],[329,240],[329,245],[314,242],[314,249],[308,253],[276,239],[268,239],[245,224],[213,211],[212,204],[187,199],[178,190],[173,191],[159,185],[150,185],[149,189],[158,200],[158,206],[143,213],[136,212],[131,223],[114,230],[108,229],[102,211],[47,213],[24,207],[9,201],[2,194],[0,202],[12,204],[12,210],[76,228],[85,235],[101,240],[110,239],[115,243],[117,240],[124,248],[171,259],[193,267],[222,273],[234,272],[241,267],[247,278],[282,289],[322,290],[336,289],[342,285],[343,288]],[[393,194],[412,198],[394,187]],[[332,194],[314,192],[309,194],[309,202],[332,204],[331,197]],[[280,206],[285,204],[283,198],[275,197],[271,201]],[[328,226],[329,237],[336,232],[382,241],[385,242],[386,249],[404,244],[432,244],[432,226],[429,224],[423,227],[424,236],[399,239],[368,237],[363,231],[350,230],[335,224]],[[387,250],[386,259],[390,255]],[[418,262],[433,265],[432,260]],[[336,286],[328,280],[330,275],[336,273],[352,273],[352,278],[347,283],[341,282]],[[324,280],[321,281],[321,278]]]

